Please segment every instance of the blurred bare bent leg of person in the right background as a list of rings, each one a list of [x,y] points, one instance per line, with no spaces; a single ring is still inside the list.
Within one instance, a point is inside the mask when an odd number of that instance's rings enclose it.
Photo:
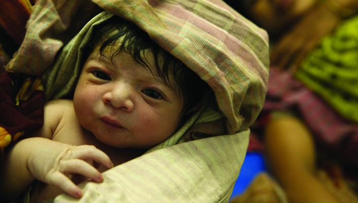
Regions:
[[[339,169],[328,175],[317,167],[313,136],[298,118],[273,117],[264,142],[270,170],[289,202],[356,202],[357,195]]]

